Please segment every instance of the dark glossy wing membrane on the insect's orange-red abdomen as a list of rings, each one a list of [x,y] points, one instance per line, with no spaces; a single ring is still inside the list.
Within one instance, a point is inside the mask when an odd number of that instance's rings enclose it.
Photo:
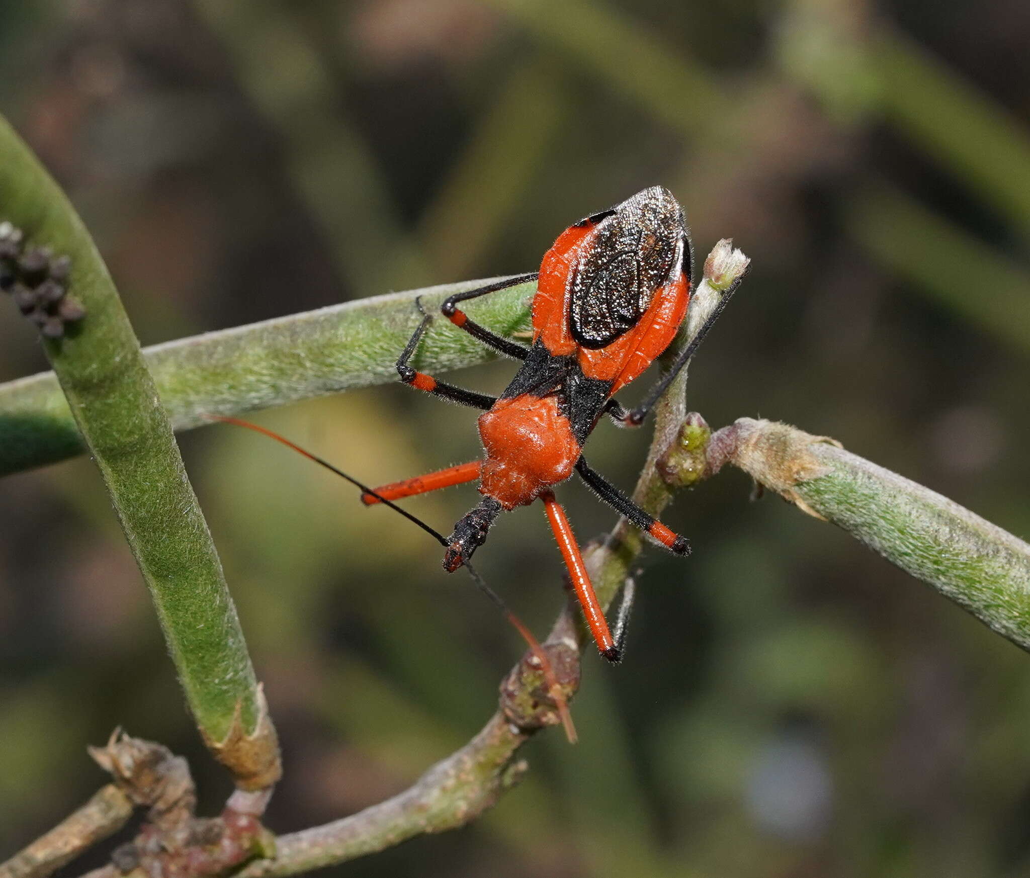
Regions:
[[[637,325],[658,288],[679,276],[688,245],[683,211],[661,186],[624,201],[593,236],[569,281],[569,325],[595,349]]]

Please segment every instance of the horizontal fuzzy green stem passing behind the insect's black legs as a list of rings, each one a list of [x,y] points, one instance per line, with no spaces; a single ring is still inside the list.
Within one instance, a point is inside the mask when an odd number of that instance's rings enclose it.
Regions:
[[[313,396],[397,380],[393,362],[427,310],[453,292],[486,281],[447,284],[334,305],[262,323],[179,339],[143,355],[176,430],[206,424],[205,415],[240,415]],[[477,320],[510,336],[528,326],[535,287],[522,284],[479,300]],[[484,345],[438,320],[416,364],[445,372],[493,358]],[[54,373],[0,385],[0,476],[54,463],[83,450]]]

